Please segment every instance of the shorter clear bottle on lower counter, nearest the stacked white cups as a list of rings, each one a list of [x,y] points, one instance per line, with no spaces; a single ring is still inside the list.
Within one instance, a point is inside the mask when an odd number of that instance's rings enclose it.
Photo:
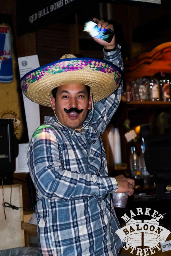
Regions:
[[[130,170],[131,170],[131,177],[135,181],[134,188],[143,188],[144,179],[139,169],[139,157],[136,153],[135,147],[131,147]]]

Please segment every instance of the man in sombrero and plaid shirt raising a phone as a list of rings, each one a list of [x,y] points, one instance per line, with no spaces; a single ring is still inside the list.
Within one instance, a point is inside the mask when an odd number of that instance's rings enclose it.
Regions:
[[[117,255],[124,246],[115,233],[120,226],[111,195],[132,195],[134,181],[108,177],[101,140],[121,100],[123,63],[115,37],[111,43],[94,40],[104,46],[104,60],[65,54],[21,81],[29,99],[51,106],[55,114],[45,117],[28,149],[43,256]]]

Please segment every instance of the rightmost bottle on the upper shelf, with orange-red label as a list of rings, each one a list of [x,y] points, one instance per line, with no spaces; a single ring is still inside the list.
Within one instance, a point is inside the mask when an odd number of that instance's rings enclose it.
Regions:
[[[161,72],[160,79],[161,100],[170,101],[170,81],[164,72]]]

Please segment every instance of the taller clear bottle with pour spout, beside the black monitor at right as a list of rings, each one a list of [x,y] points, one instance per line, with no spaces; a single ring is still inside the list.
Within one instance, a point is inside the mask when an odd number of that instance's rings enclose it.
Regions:
[[[140,155],[140,158],[139,158],[139,166],[140,166],[140,171],[141,171],[141,174],[144,178],[144,186],[150,186],[151,184],[151,176],[149,174],[149,172],[147,171],[146,169],[146,166],[145,166],[145,160],[144,160],[144,152],[145,152],[145,149],[146,149],[146,145],[145,145],[145,142],[144,142],[144,138],[142,138],[142,144],[141,144],[141,155]]]

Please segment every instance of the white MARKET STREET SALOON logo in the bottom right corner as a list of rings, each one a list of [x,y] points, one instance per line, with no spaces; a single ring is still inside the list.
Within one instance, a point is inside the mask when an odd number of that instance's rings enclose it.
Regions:
[[[159,226],[159,220],[163,219],[164,217],[162,214],[158,215],[158,211],[154,210],[153,214],[151,215],[149,213],[151,211],[150,208],[145,208],[145,212],[143,212],[142,208],[136,209],[137,214],[130,210],[131,218],[129,218],[126,214],[121,217],[126,222],[126,226],[118,229],[116,234],[118,234],[122,242],[126,242],[124,249],[128,250],[130,248],[130,253],[133,254],[133,251],[137,250],[136,255],[140,256],[147,256],[150,255],[150,253],[154,254],[154,248],[157,248],[159,251],[161,250],[159,243],[164,243],[166,241],[170,231],[163,226]],[[144,222],[142,222],[142,220],[133,219],[133,217],[137,215],[144,215],[144,217],[151,216],[151,219],[144,220]],[[148,246],[148,248],[144,249],[136,248],[138,246],[142,246],[142,232],[144,232],[143,245]]]

